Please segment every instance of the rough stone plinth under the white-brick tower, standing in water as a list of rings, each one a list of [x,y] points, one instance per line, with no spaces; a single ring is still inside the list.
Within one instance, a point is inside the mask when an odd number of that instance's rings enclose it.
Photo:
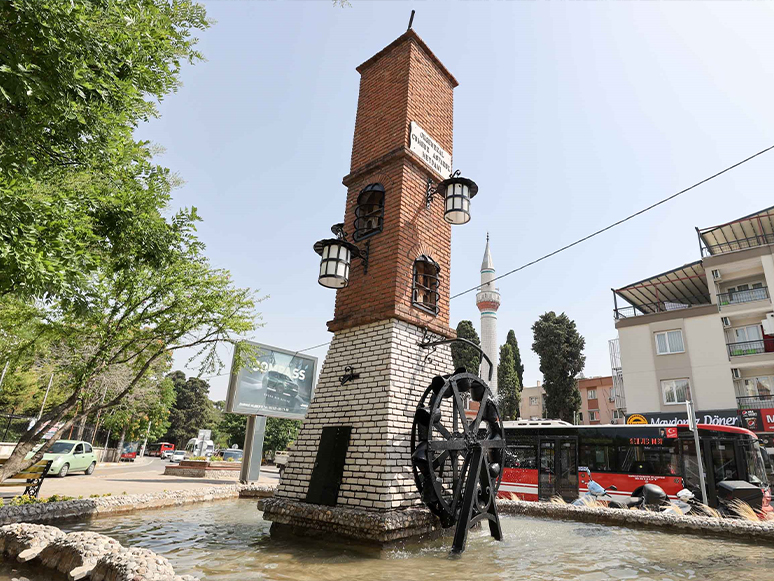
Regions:
[[[275,531],[306,536],[330,533],[361,542],[383,544],[440,531],[440,523],[421,507],[374,512],[340,506],[320,506],[286,498],[258,502],[263,518],[273,521]]]

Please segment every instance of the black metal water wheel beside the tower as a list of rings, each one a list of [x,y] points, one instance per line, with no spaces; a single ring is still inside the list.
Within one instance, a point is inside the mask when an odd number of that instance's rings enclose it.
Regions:
[[[465,415],[468,397],[479,403],[473,419]],[[500,413],[484,380],[464,369],[436,376],[414,414],[411,459],[422,501],[443,527],[457,524],[456,552],[481,520],[489,520],[492,536],[502,536],[495,498],[504,452]]]

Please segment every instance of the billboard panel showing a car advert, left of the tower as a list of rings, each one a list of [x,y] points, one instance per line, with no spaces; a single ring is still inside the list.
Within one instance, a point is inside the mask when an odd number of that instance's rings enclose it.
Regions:
[[[246,341],[256,348],[255,364],[231,364],[226,411],[251,416],[302,419],[312,401],[317,357]]]

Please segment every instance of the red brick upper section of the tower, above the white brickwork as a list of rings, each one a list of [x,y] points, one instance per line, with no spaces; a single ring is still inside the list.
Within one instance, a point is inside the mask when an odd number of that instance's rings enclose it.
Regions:
[[[417,122],[449,153],[452,151],[454,78],[413,31],[358,67],[361,74],[357,121],[347,186],[345,229],[354,230],[361,190],[385,187],[383,231],[369,237],[368,273],[351,268],[349,286],[336,294],[331,331],[398,318],[446,337],[449,328],[451,226],[443,200],[426,207],[428,178],[439,176],[409,151],[409,125]],[[366,240],[358,242],[363,247]],[[441,267],[437,315],[412,305],[414,260],[425,254]]]

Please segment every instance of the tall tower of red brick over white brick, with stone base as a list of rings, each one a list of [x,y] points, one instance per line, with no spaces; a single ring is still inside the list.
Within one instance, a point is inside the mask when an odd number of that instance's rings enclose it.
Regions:
[[[426,192],[428,179],[451,173],[457,81],[410,29],[357,71],[344,230],[367,245],[368,268],[352,261],[337,291],[314,400],[262,506],[274,527],[389,541],[434,526],[416,492],[410,437],[423,390],[453,370],[448,345],[428,356],[418,343],[425,331],[454,337],[451,226],[443,200],[428,204]]]

